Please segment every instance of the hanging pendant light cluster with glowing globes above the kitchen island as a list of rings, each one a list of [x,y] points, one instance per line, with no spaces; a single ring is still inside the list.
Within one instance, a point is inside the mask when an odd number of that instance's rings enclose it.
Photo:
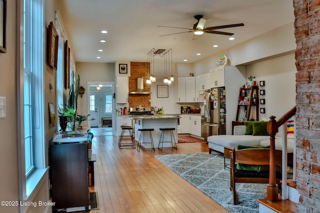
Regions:
[[[146,80],[147,84],[155,82],[154,75],[154,56],[164,57],[164,78],[163,82],[171,84],[174,81],[173,69],[172,69],[172,49],[165,51],[165,49],[155,50],[154,48],[147,53],[147,62],[150,63],[150,77]],[[153,73],[153,74],[152,74]],[[171,75],[170,75],[171,73]],[[169,75],[169,77],[167,77]]]

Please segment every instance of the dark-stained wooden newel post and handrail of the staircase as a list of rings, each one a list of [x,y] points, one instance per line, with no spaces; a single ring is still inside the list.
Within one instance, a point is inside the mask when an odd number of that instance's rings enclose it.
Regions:
[[[270,120],[266,124],[266,131],[270,135],[270,166],[269,166],[269,184],[266,188],[266,200],[267,202],[276,202],[278,201],[278,187],[275,182],[275,134],[278,132],[278,129],[281,125],[286,123],[292,116],[295,115],[296,107],[294,106],[277,121],[275,116],[270,116]],[[284,136],[283,136],[284,137]],[[294,160],[294,159],[293,159]]]

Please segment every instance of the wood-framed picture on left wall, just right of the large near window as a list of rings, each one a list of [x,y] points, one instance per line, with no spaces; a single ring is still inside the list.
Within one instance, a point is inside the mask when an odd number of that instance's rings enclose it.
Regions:
[[[51,21],[48,27],[47,34],[47,63],[53,68],[56,69],[57,59],[58,59],[58,34],[53,26]]]

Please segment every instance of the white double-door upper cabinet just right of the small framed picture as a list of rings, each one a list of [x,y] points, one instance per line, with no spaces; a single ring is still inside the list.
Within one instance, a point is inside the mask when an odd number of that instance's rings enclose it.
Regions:
[[[195,78],[178,77],[178,103],[195,102]]]

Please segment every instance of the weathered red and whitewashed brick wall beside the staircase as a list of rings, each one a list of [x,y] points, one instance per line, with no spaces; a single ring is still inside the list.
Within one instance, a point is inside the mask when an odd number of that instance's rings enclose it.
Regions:
[[[293,0],[297,212],[320,212],[320,0]]]

